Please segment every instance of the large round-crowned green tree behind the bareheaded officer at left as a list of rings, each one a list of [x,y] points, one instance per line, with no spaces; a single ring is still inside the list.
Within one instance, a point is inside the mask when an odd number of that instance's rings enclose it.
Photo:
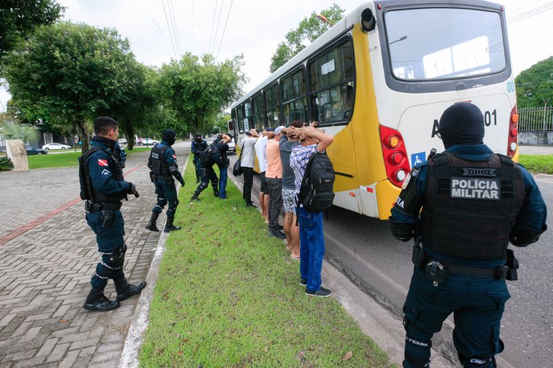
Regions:
[[[97,112],[128,102],[136,86],[129,41],[113,28],[42,26],[6,61],[9,91],[21,113],[78,131],[83,152]]]

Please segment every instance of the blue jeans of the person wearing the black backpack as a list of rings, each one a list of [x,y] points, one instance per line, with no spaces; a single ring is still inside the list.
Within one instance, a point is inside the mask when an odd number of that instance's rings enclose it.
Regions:
[[[299,273],[307,280],[307,289],[321,289],[324,258],[323,213],[299,208]]]

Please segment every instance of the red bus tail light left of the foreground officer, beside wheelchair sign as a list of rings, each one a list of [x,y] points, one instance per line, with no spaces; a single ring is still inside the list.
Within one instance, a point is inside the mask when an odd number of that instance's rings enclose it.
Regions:
[[[402,186],[407,173],[411,170],[403,137],[397,130],[381,125],[380,142],[386,177],[395,186]]]

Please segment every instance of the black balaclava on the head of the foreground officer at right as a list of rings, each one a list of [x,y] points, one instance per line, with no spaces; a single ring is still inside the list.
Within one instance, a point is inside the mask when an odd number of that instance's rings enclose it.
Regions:
[[[482,144],[484,115],[478,106],[470,102],[457,102],[440,117],[438,133],[445,148],[456,144]]]

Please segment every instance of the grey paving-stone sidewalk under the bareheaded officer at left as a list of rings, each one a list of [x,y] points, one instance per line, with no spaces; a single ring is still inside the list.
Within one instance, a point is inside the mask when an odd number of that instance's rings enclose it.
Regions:
[[[180,168],[189,144],[176,144]],[[146,167],[148,153],[127,159],[125,179],[136,184],[140,198],[124,202],[129,282],[144,280],[160,233],[144,229],[156,202]],[[116,367],[138,297],[106,313],[86,311],[82,304],[100,259],[95,235],[84,220],[84,204],[60,206],[79,196],[77,168],[0,174],[0,238],[26,224],[28,231],[0,242],[0,368]],[[37,218],[43,221],[37,223]],[[165,222],[165,215],[158,225]],[[113,282],[106,296],[115,298]]]

